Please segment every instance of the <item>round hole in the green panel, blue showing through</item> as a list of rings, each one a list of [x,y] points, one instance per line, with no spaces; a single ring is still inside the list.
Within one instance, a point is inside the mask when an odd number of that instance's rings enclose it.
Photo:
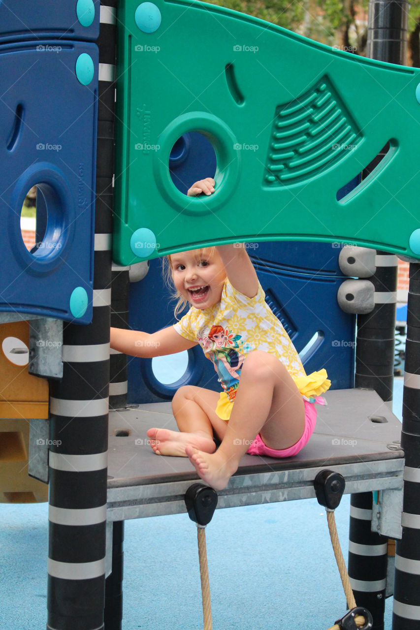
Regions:
[[[216,166],[213,144],[199,131],[182,134],[172,146],[169,156],[170,176],[173,184],[184,195],[195,181],[214,178]]]

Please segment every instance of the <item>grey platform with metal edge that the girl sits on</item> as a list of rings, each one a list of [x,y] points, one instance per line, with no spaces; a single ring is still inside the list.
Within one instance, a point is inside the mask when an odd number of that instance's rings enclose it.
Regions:
[[[402,488],[401,423],[378,394],[345,389],[325,395],[310,442],[295,457],[244,455],[219,491],[218,508],[315,496],[313,479],[331,468],[346,479],[346,493]],[[185,457],[153,453],[146,431],[176,429],[170,403],[110,413],[108,520],[185,512],[184,494],[199,479]]]

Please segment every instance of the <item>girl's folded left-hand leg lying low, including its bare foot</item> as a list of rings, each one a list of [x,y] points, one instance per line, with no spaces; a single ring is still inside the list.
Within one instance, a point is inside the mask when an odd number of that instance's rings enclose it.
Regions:
[[[186,457],[185,446],[192,445],[207,453],[213,453],[213,429],[223,438],[226,422],[216,414],[218,392],[187,385],[180,387],[172,400],[172,411],[178,431],[151,428],[148,430],[150,445],[156,455]]]

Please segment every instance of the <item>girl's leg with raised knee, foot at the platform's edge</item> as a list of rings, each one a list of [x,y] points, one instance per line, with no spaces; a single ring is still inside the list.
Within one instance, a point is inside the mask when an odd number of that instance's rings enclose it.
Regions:
[[[305,405],[288,370],[273,355],[259,350],[243,362],[235,404],[225,437],[209,455],[187,446],[185,452],[197,473],[222,490],[257,433],[272,449],[296,444],[305,428]]]

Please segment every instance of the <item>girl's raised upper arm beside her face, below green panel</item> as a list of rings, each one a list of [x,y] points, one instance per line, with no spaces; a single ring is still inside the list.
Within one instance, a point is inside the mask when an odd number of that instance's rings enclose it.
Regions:
[[[219,245],[218,252],[230,284],[243,295],[255,297],[258,292],[258,278],[245,249],[245,243]]]

